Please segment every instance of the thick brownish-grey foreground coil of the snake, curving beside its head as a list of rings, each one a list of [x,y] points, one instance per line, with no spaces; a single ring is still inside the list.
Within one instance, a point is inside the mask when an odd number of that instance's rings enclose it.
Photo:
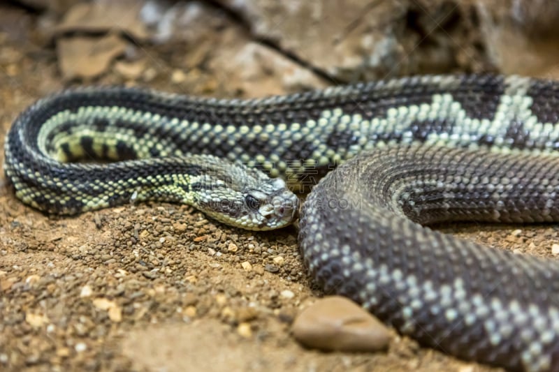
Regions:
[[[558,221],[558,185],[555,156],[437,145],[368,151],[303,204],[305,265],[326,292],[424,345],[511,370],[557,370],[557,262],[420,223]]]

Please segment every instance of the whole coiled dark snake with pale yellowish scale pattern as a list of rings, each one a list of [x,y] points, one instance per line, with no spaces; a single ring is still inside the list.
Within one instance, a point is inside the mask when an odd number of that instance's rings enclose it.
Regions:
[[[161,200],[249,230],[298,218],[324,293],[461,359],[559,371],[557,262],[429,227],[559,221],[558,107],[559,82],[516,75],[251,99],[80,87],[15,119],[4,171],[45,214]]]

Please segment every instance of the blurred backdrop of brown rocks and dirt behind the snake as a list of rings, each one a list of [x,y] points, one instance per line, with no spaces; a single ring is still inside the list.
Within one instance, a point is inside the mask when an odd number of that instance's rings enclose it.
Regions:
[[[550,0],[12,0],[0,86],[262,96],[417,73],[559,74]]]

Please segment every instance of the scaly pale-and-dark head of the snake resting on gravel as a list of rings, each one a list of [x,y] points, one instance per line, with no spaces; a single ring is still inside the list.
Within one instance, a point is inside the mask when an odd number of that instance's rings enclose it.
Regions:
[[[223,162],[223,160],[220,160]],[[283,179],[240,163],[211,168],[198,175],[205,185],[192,204],[217,221],[245,230],[274,230],[298,216],[298,198]]]

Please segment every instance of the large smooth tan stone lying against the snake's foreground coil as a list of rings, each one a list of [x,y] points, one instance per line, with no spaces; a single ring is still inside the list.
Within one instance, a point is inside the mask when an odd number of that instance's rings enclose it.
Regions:
[[[340,351],[386,350],[388,329],[345,297],[319,299],[293,322],[293,336],[308,348]]]

